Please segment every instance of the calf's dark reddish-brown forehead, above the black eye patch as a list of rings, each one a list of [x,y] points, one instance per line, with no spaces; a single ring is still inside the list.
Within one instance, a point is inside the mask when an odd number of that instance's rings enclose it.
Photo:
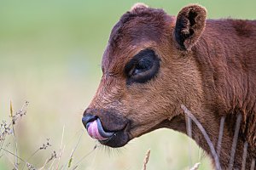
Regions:
[[[162,9],[147,8],[147,13],[124,14],[113,26],[102,58],[103,71],[119,72],[140,50],[150,48],[172,34],[169,30],[171,23],[172,17]]]

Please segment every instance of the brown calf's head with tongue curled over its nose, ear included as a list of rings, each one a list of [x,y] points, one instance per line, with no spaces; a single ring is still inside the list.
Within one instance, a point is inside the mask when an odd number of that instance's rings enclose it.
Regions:
[[[92,138],[120,147],[170,127],[183,117],[181,104],[199,105],[201,75],[190,49],[205,20],[206,9],[198,5],[174,17],[137,4],[120,18],[102,57],[102,81],[82,119]]]

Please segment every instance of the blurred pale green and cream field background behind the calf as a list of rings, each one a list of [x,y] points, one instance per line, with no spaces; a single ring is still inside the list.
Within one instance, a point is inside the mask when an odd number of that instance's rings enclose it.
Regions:
[[[140,1],[176,15],[189,3],[207,7],[208,18],[256,18],[256,1]],[[13,1],[0,0],[0,121],[9,121],[9,101],[18,111],[30,102],[26,116],[15,125],[19,156],[25,160],[46,140],[52,145],[29,160],[42,167],[50,153],[59,152],[65,127],[60,167],[67,165],[73,148],[73,164],[93,149],[96,141],[84,131],[81,116],[100,81],[101,58],[109,33],[121,14],[137,1]],[[13,143],[9,137],[6,143]],[[148,149],[148,169],[188,169],[210,161],[181,133],[160,129],[132,140],[125,148],[97,148],[78,169],[141,169]],[[11,144],[6,148],[13,150]],[[0,152],[0,169],[11,169],[14,158]],[[55,166],[54,166],[55,167]]]

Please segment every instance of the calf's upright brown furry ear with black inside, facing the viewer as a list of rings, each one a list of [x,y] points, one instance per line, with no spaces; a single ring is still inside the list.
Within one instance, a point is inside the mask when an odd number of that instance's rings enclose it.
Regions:
[[[204,31],[207,10],[200,5],[184,7],[178,14],[174,37],[180,48],[190,50]]]

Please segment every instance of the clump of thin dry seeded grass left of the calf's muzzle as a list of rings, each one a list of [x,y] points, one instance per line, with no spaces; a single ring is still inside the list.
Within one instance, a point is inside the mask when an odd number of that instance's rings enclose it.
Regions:
[[[71,155],[69,158],[64,161],[66,163],[63,164],[61,162],[61,156],[67,153],[64,152],[63,147],[63,136],[64,136],[64,127],[62,131],[62,138],[61,138],[61,148],[59,151],[52,150],[49,157],[45,159],[44,164],[38,165],[36,167],[32,163],[32,158],[36,155],[39,155],[40,151],[49,150],[50,147],[53,147],[52,144],[50,144],[49,139],[46,139],[46,141],[41,144],[41,146],[38,147],[37,150],[32,152],[31,156],[28,156],[27,158],[22,158],[20,154],[18,153],[18,143],[15,135],[15,124],[17,124],[20,119],[23,116],[26,116],[26,107],[28,105],[28,102],[26,102],[20,111],[15,112],[13,111],[12,103],[10,103],[10,121],[6,122],[3,121],[0,124],[0,159],[7,158],[9,160],[10,167],[14,169],[29,169],[29,170],[35,170],[35,169],[77,169],[79,167],[79,163],[83,161],[87,156],[90,156],[90,154],[96,150],[96,146],[91,150],[89,153],[87,153],[82,159],[77,161],[76,163],[73,160],[73,156],[75,154],[75,151],[77,150],[81,137],[82,132],[79,135],[79,139],[77,141],[77,144],[73,147],[73,150],[71,151]],[[13,139],[13,143],[9,142],[11,139]],[[12,158],[13,157],[13,158]],[[61,165],[62,164],[62,165]]]

